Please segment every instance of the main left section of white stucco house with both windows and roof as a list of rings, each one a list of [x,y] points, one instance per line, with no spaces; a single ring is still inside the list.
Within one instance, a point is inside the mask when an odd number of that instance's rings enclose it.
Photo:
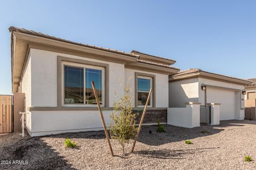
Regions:
[[[119,79],[129,84],[141,111],[153,88],[145,124],[167,122],[169,75],[174,60],[85,45],[32,30],[10,27],[12,92],[25,94],[26,129],[31,136],[102,130],[92,94],[94,81],[106,123],[113,111]]]

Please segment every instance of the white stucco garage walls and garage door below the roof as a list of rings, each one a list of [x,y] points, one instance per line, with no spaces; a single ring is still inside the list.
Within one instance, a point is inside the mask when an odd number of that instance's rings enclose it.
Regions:
[[[205,91],[201,89],[206,85]],[[242,84],[236,84],[198,76],[169,82],[169,107],[185,107],[187,102],[220,103],[219,120],[244,119],[244,95]]]

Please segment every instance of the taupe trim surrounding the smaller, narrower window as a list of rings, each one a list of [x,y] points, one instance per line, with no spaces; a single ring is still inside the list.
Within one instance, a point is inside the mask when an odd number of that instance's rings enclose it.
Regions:
[[[141,72],[135,72],[135,107],[143,107],[143,105],[138,106],[138,77],[149,77],[152,79],[152,105],[150,107],[156,107],[156,75],[154,74],[147,74]]]

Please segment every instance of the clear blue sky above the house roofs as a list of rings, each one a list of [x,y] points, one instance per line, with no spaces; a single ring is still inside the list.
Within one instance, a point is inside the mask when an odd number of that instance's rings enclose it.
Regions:
[[[169,57],[256,77],[256,1],[1,1],[0,94],[11,92],[10,33],[27,28],[78,43]]]

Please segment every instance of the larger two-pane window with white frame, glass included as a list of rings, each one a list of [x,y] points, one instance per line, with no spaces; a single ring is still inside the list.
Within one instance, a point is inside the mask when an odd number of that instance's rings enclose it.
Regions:
[[[62,62],[62,105],[63,106],[96,106],[92,84],[104,106],[105,68],[71,62]]]

